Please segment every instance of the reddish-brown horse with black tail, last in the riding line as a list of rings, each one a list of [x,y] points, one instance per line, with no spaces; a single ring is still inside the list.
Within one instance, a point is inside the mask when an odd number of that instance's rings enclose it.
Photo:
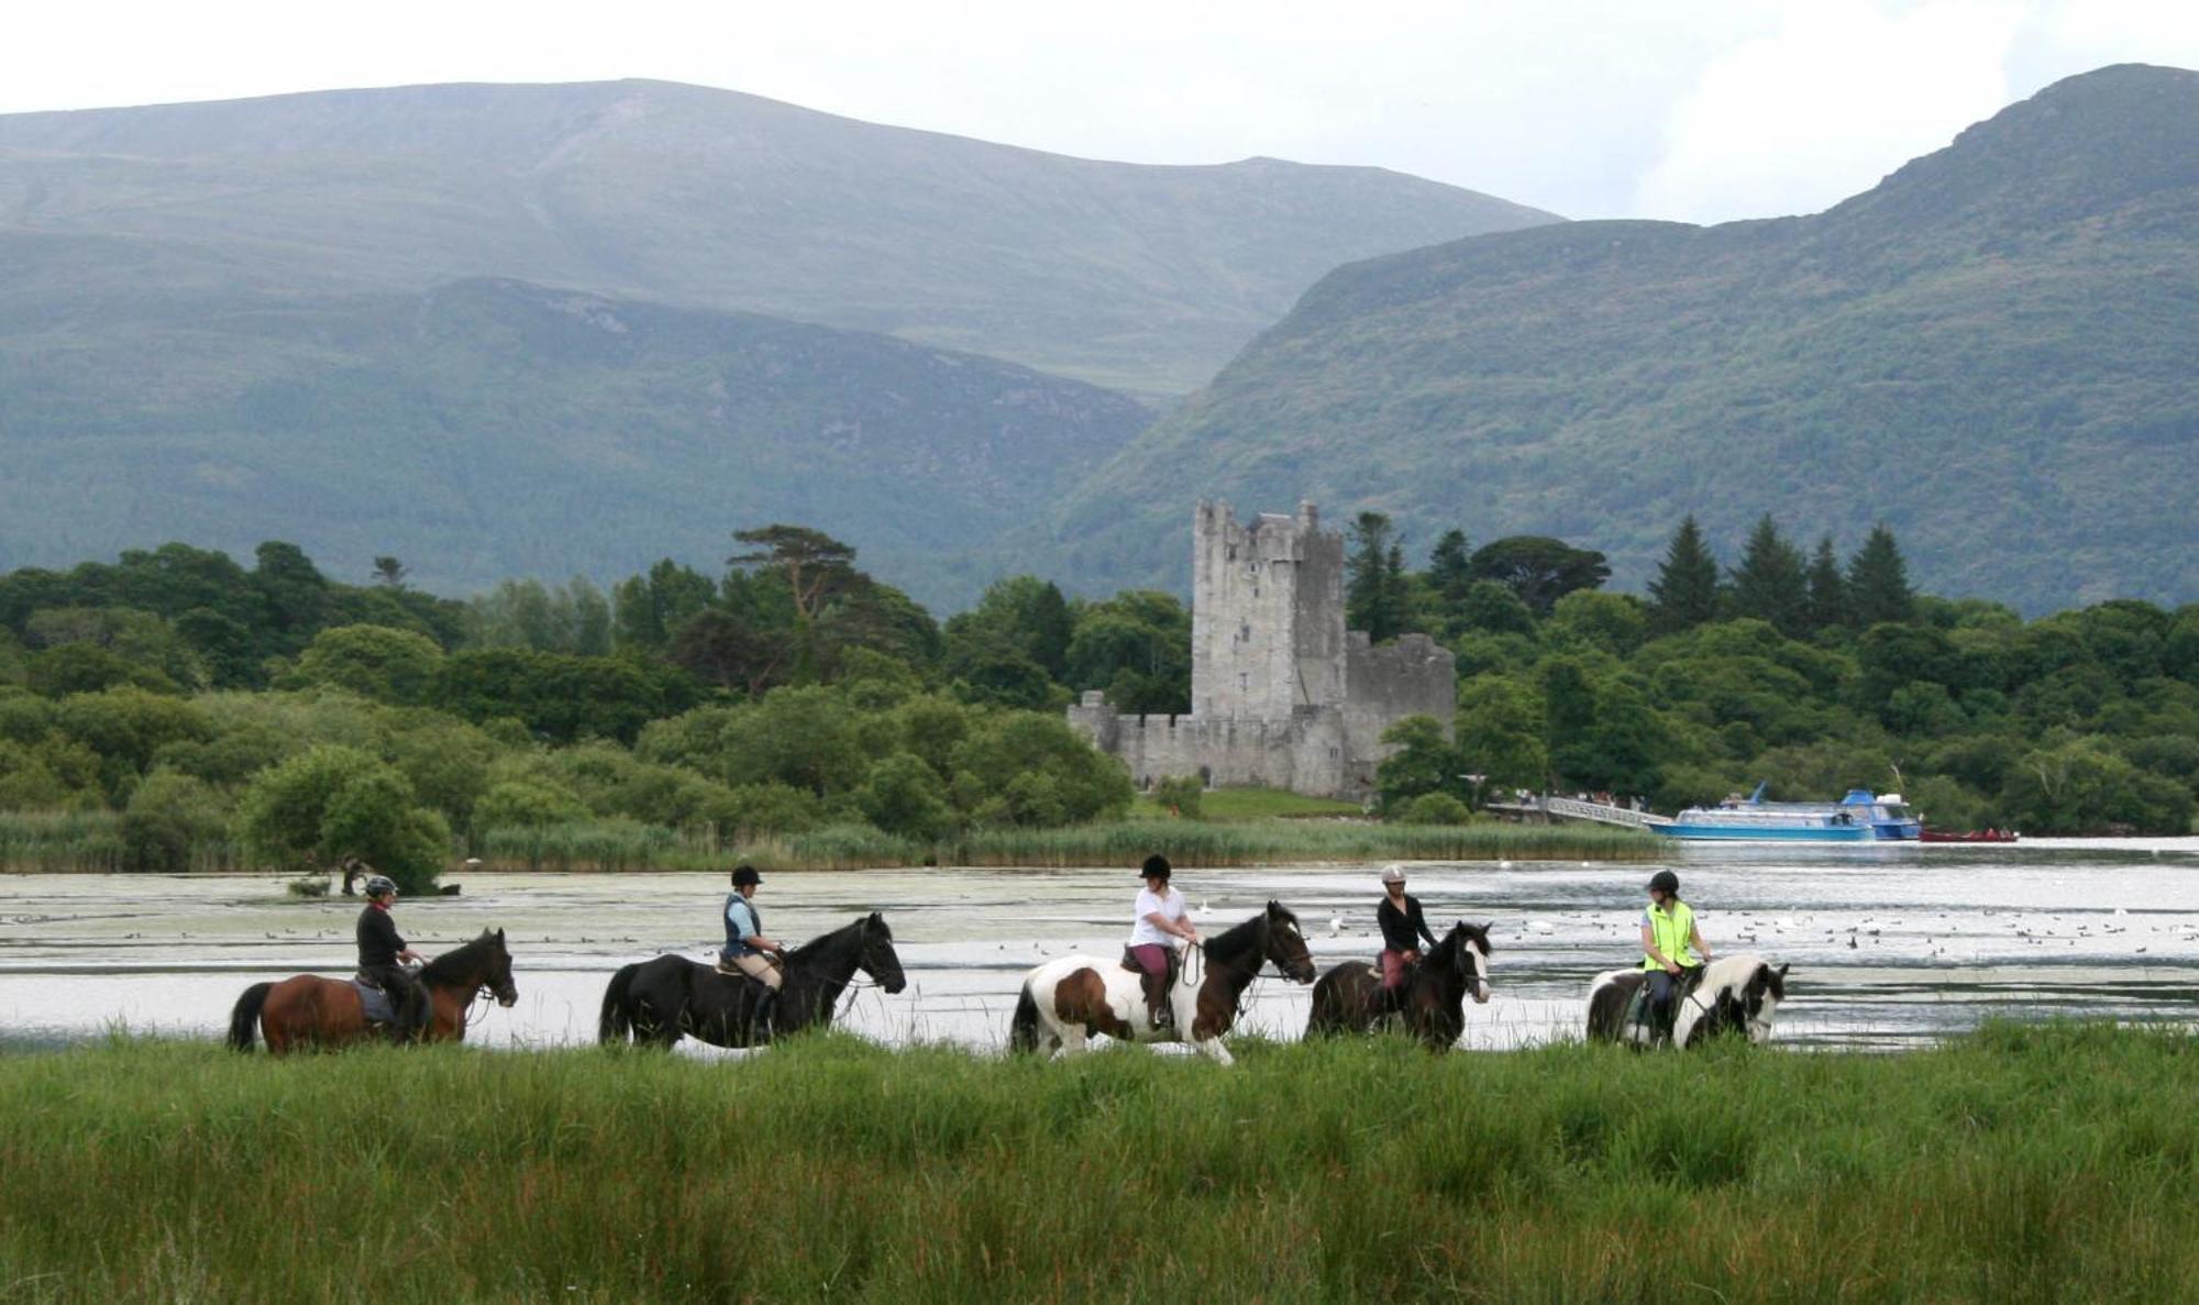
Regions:
[[[504,929],[444,951],[420,967],[420,986],[429,995],[429,1022],[420,1033],[429,1041],[464,1041],[466,1008],[482,989],[495,993],[499,1006],[519,1000],[512,986],[512,953],[504,949]],[[270,1052],[292,1048],[350,1046],[385,1037],[383,1026],[367,1024],[365,1004],[352,980],[301,973],[275,984],[253,984],[229,1011],[229,1046],[253,1050],[253,1030],[268,1041]]]

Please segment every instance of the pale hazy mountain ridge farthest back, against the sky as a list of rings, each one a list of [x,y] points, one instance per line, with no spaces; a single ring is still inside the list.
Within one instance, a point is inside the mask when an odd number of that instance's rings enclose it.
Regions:
[[[1348,259],[1555,222],[1368,167],[1064,158],[662,81],[0,116],[0,233],[88,303],[464,277],[741,310],[1187,393]],[[90,257],[110,255],[110,257]],[[150,272],[185,275],[167,283]]]

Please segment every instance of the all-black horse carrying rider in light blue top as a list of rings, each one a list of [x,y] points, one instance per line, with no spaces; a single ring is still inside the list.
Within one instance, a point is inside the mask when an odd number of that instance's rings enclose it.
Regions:
[[[772,1008],[770,1035],[785,1037],[831,1024],[833,1006],[855,971],[871,975],[888,993],[908,986],[902,958],[893,951],[893,929],[877,912],[787,953],[787,978]],[[686,956],[638,960],[611,975],[596,1039],[668,1048],[684,1033],[712,1046],[756,1046],[767,1041],[756,1028],[761,986]]]

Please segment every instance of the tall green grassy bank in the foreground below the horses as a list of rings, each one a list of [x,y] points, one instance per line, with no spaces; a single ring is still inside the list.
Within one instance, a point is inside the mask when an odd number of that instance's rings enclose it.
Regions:
[[[0,1059],[9,1298],[2168,1301],[2195,1044]]]

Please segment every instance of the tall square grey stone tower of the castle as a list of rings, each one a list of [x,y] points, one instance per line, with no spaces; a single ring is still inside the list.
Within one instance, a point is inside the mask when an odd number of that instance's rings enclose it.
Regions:
[[[1240,525],[1227,503],[1192,521],[1192,716],[1286,721],[1346,692],[1344,536],[1313,503]]]

